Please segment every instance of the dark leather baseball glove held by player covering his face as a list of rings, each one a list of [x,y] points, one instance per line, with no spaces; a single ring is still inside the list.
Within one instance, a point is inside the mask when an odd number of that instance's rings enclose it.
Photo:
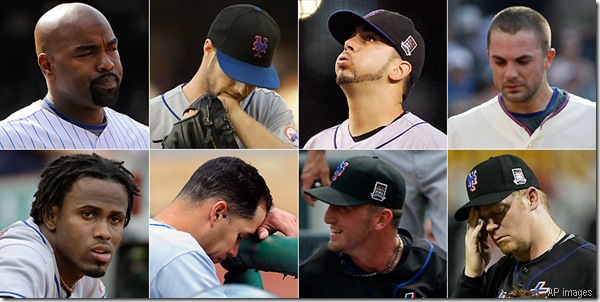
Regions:
[[[221,101],[204,94],[183,113],[196,114],[173,124],[171,133],[162,139],[163,149],[238,149],[235,130]]]

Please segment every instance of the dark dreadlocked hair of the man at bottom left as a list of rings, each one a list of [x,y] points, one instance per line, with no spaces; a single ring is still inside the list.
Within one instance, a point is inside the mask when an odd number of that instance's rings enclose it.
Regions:
[[[36,224],[44,222],[45,214],[53,206],[62,208],[65,195],[82,177],[109,180],[123,185],[128,199],[125,226],[129,223],[133,209],[133,195],[140,195],[133,174],[123,167],[122,161],[106,159],[96,153],[61,156],[46,165],[41,177],[38,190],[33,195],[35,199],[30,212]]]

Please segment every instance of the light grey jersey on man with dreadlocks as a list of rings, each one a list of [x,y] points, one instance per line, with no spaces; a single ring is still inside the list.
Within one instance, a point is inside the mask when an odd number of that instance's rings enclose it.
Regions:
[[[0,232],[0,296],[67,298],[52,246],[33,218],[13,223]],[[105,298],[100,279],[84,276],[71,298]]]

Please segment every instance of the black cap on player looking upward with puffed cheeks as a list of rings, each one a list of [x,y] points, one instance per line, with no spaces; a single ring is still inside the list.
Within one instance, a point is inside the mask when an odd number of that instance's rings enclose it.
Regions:
[[[340,10],[329,17],[329,31],[342,45],[354,34],[358,25],[371,26],[394,45],[402,59],[410,62],[410,86],[414,86],[425,62],[425,41],[412,20],[385,9],[374,10],[364,17],[353,11]]]

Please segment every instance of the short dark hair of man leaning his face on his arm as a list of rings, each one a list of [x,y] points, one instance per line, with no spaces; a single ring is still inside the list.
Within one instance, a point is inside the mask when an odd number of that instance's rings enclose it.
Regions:
[[[201,165],[183,186],[177,198],[193,203],[210,198],[227,202],[230,215],[252,219],[259,205],[269,212],[273,197],[258,170],[237,157],[218,157]]]

